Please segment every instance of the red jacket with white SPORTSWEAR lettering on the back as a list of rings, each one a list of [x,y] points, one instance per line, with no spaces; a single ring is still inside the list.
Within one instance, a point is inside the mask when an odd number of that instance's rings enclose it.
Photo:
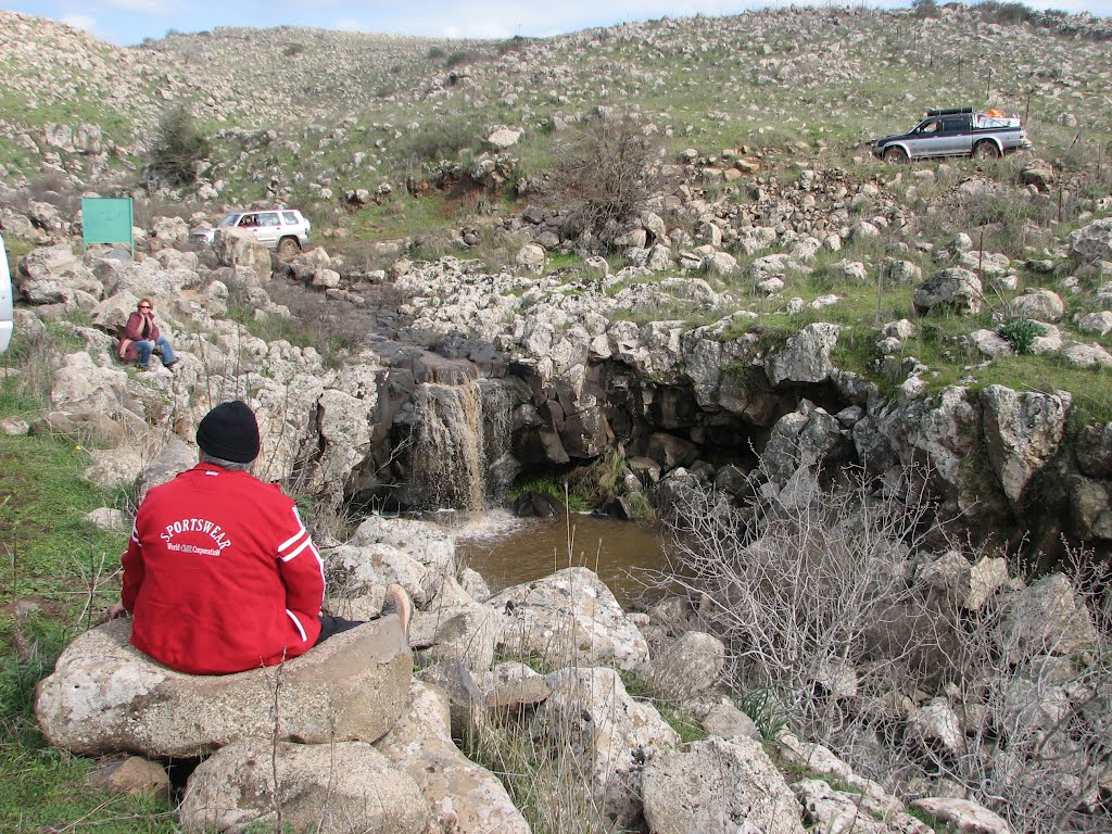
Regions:
[[[193,675],[304,654],[320,634],[324,594],[320,554],[294,502],[210,464],[147,494],[123,554],[131,644]]]

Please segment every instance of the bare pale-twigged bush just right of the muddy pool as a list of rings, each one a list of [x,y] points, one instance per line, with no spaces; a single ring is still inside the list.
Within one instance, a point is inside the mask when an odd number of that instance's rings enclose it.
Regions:
[[[754,473],[755,494],[767,477]],[[847,694],[902,677],[937,641],[907,578],[909,545],[930,509],[923,479],[907,484],[910,502],[858,479],[804,503],[758,500],[749,513],[714,490],[681,494],[675,573],[726,641],[738,688],[773,693],[807,737],[832,741]],[[877,635],[896,631],[914,639],[881,653]]]

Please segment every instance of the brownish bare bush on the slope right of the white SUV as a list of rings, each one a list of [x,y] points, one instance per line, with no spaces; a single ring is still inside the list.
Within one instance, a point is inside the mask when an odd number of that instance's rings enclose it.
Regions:
[[[620,229],[641,214],[653,190],[654,156],[641,119],[596,117],[560,149],[555,197],[572,207],[580,231]]]

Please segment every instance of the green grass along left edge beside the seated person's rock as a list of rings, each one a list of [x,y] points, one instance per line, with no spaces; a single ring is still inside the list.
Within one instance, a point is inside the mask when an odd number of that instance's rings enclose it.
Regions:
[[[17,335],[0,368],[19,374],[29,351]],[[0,419],[41,408],[19,378],[0,379]],[[47,746],[32,712],[58,652],[117,598],[125,535],[85,515],[121,496],[82,480],[75,438],[0,434],[0,831],[173,831],[159,803],[87,787],[96,762]]]

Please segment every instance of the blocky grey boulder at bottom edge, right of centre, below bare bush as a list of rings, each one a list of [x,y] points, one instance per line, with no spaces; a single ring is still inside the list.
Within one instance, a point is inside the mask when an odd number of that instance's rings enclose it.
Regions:
[[[653,834],[803,834],[800,803],[759,742],[707,738],[645,764]]]

